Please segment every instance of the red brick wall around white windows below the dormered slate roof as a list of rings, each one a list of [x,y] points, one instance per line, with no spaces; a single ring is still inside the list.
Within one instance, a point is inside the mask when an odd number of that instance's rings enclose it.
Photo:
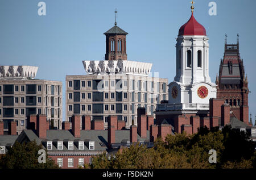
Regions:
[[[89,158],[92,156],[48,156],[57,164],[57,158],[63,158],[63,169],[77,169],[79,167],[79,158],[84,158],[84,164],[89,163]],[[68,167],[68,158],[73,158],[73,167]]]

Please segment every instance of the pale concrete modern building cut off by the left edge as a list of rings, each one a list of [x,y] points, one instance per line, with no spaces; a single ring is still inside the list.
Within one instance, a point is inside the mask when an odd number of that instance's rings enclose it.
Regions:
[[[27,116],[46,114],[56,128],[62,122],[62,82],[35,79],[36,66],[0,66],[0,121],[7,131],[16,121],[17,133],[27,128]]]

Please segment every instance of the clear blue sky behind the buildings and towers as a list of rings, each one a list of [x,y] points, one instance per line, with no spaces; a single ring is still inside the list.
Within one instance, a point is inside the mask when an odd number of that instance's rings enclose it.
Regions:
[[[152,62],[159,77],[175,77],[175,37],[191,15],[189,0],[44,0],[46,16],[38,15],[37,0],[0,1],[0,65],[39,66],[36,78],[63,82],[65,76],[85,74],[82,60],[103,60],[105,31],[117,25],[127,35],[127,57]],[[195,1],[195,18],[209,37],[209,72],[213,82],[224,53],[224,34],[236,43],[248,75],[249,113],[256,114],[255,0],[219,0],[210,16],[208,0]],[[65,119],[63,119],[65,120]]]

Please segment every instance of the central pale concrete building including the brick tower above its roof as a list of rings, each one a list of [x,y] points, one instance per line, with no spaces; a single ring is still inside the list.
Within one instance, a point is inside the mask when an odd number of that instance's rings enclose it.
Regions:
[[[168,100],[168,79],[151,73],[151,63],[128,61],[126,35],[115,26],[105,32],[106,55],[102,61],[82,61],[86,75],[66,76],[66,120],[73,114],[104,120],[117,115],[126,128],[137,125],[137,108],[154,115],[156,104]]]

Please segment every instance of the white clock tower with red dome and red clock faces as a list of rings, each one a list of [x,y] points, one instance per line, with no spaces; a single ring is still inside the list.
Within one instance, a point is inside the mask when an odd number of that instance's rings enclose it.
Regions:
[[[169,84],[169,104],[186,109],[209,107],[216,98],[217,88],[209,77],[209,44],[205,28],[196,21],[191,6],[191,18],[180,27],[176,43],[176,76]],[[176,106],[176,108],[179,108]]]

